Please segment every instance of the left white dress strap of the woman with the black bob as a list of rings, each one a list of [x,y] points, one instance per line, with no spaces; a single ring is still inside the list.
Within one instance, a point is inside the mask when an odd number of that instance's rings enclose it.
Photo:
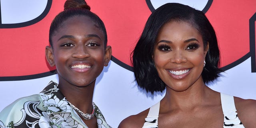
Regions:
[[[145,118],[145,123],[142,128],[158,128],[158,115],[160,109],[160,101],[153,105]]]

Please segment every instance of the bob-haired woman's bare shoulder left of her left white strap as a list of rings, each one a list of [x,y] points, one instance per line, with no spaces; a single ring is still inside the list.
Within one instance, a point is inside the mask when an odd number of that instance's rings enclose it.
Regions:
[[[149,108],[140,112],[139,114],[129,116],[122,120],[118,128],[142,128],[145,118],[147,117]]]

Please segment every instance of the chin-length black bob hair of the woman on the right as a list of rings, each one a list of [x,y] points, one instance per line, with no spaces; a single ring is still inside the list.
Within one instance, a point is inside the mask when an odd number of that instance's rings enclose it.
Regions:
[[[202,71],[204,83],[214,81],[222,70],[218,68],[220,52],[215,31],[202,11],[178,3],[167,3],[156,9],[148,18],[145,28],[132,52],[134,75],[138,86],[147,92],[162,92],[166,84],[158,76],[152,55],[158,32],[164,24],[170,21],[184,21],[190,23],[200,32],[204,48],[209,43],[206,53],[206,65]]]

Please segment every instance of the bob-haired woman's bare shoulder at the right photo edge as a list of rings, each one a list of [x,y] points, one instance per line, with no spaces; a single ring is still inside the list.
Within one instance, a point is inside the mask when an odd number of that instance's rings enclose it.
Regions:
[[[256,126],[256,100],[234,97],[236,112],[246,128]]]

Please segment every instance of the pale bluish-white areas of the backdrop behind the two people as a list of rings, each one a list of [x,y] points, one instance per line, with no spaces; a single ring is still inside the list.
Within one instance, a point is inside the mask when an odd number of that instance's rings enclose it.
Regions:
[[[186,4],[186,0],[176,1]],[[14,7],[18,9],[18,11],[16,10],[16,12],[12,13],[10,11],[13,11],[13,8],[12,10],[10,10],[10,7],[6,6],[13,5],[13,2],[16,3],[18,6],[41,5],[41,7],[33,8],[33,10],[38,9],[39,11],[23,10],[24,7],[21,9],[18,7]],[[24,4],[22,2],[28,3]],[[175,1],[165,0],[165,2]],[[40,3],[34,3],[34,0],[1,0],[0,4],[2,24],[20,23],[34,19],[35,16],[42,13],[46,6],[46,3],[47,0],[42,0]],[[158,6],[163,4],[162,2],[160,3],[157,0],[151,0],[151,3],[154,8],[157,8]],[[197,4],[187,4],[202,10],[202,8],[204,8],[204,6],[206,5],[207,1],[194,0],[194,3]],[[89,2],[88,4],[90,5]],[[20,16],[31,12],[34,12],[36,14],[33,13],[31,15],[26,15],[28,16],[26,17],[26,19],[24,19],[24,16]],[[14,16],[12,14],[16,15]],[[44,47],[42,47],[42,49],[44,50]],[[236,51],[234,50],[233,53],[236,53]],[[2,54],[4,53],[0,51],[1,58],[4,58]],[[214,82],[208,86],[218,92],[238,96],[240,98],[256,99],[256,73],[252,72],[251,70],[251,62],[251,57],[245,59],[245,61],[243,61],[242,63],[222,73],[222,77],[218,80],[218,82]],[[1,67],[3,66],[4,65],[1,65]],[[17,70],[17,72],[18,71],[19,70]],[[1,71],[0,69],[0,72],[3,71]],[[58,82],[57,75],[28,80],[0,81],[0,111],[5,106],[20,97],[30,96],[32,94],[40,92],[50,80]],[[114,61],[110,61],[109,65],[107,67],[104,67],[103,72],[96,80],[96,87],[94,90],[94,102],[99,106],[108,124],[110,124],[113,128],[116,128],[118,124],[127,116],[137,114],[142,110],[149,108],[150,106],[158,102],[163,96],[164,92],[159,92],[155,95],[151,95],[146,93],[144,90],[138,88],[136,82],[134,82],[133,72],[127,70],[126,68],[123,68]]]

